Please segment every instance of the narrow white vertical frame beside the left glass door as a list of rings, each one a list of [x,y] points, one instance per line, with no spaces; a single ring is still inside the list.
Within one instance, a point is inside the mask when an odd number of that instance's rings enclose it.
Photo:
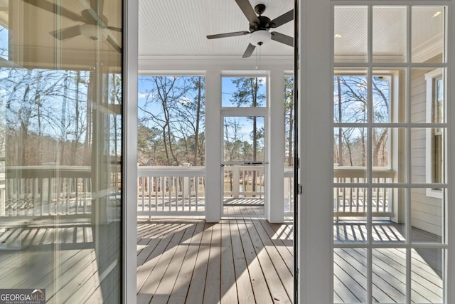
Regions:
[[[124,0],[123,58],[124,98],[122,120],[125,136],[122,182],[122,303],[136,303],[137,264],[137,57],[138,57],[137,0]],[[87,204],[87,201],[84,202]],[[85,208],[85,207],[84,207]]]

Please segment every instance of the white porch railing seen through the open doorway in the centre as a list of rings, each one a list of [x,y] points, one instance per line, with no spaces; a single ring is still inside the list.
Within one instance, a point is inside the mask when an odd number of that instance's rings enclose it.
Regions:
[[[139,166],[138,215],[204,215],[205,167]],[[255,191],[252,179],[256,179]],[[292,168],[284,169],[284,212],[294,211]],[[264,197],[264,168],[251,165],[224,167],[224,193],[233,199]]]

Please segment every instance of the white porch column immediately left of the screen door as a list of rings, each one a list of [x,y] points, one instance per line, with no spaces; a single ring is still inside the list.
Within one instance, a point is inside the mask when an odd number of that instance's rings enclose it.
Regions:
[[[221,73],[205,74],[205,220],[220,221],[223,204],[221,189]]]

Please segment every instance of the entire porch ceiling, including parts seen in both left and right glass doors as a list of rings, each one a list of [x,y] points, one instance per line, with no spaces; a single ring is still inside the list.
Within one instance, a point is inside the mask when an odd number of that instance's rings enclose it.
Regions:
[[[58,0],[57,2],[63,8],[77,14],[90,6],[89,0]],[[105,0],[103,14],[109,19],[110,26],[121,27],[122,20],[118,14],[120,7],[114,6],[113,3],[120,2]],[[264,4],[267,8],[263,15],[275,19],[293,9],[294,0],[250,0],[250,4],[252,7]],[[55,29],[56,24],[58,24],[57,28],[80,24],[70,19],[58,18],[49,11],[23,1],[0,0],[0,6],[5,6],[4,10],[8,5],[22,6],[23,20],[11,22],[11,19],[4,19],[0,15],[0,23],[9,26],[13,33],[23,35],[23,38],[16,38],[14,41],[21,41],[24,50],[29,49],[30,60],[36,63],[43,62],[44,59],[43,56],[33,54],[44,50],[42,53],[45,55],[46,49],[55,48],[55,38],[48,32]],[[442,50],[444,14],[441,13],[441,6],[412,6],[412,49],[416,54],[425,54],[428,58],[429,49],[433,52]],[[367,6],[336,6],[333,29],[336,56],[365,56],[368,35],[367,16]],[[373,7],[375,55],[396,58],[405,56],[406,18],[405,6]],[[139,0],[139,61],[169,57],[185,58],[186,61],[191,61],[191,58],[198,60],[235,58],[237,61],[238,58],[241,65],[247,62],[241,57],[248,46],[249,36],[212,40],[208,40],[206,36],[248,30],[248,21],[235,0]],[[270,31],[294,36],[294,23],[289,22]],[[112,31],[110,35],[121,45],[121,33]],[[86,56],[83,51],[92,48],[93,43],[87,37],[77,36],[58,43],[58,47],[63,54],[68,54],[68,63],[70,63],[73,61],[71,56],[78,56],[78,53],[81,54],[79,56]],[[113,52],[112,46],[109,46],[106,41],[96,43],[101,43],[102,51]],[[284,58],[283,62],[288,62],[290,59],[292,62],[293,48],[277,41],[269,41],[257,48],[257,53],[255,51],[248,62],[254,61],[256,55],[261,55],[263,58],[269,56],[274,61],[277,61],[277,58]],[[48,60],[52,63],[55,58]],[[402,59],[397,60],[402,61]],[[163,66],[166,67],[166,65]]]

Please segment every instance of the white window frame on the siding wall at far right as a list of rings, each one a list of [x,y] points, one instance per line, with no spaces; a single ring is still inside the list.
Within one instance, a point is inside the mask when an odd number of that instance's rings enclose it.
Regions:
[[[426,122],[433,123],[432,121],[432,111],[433,111],[433,102],[434,102],[434,80],[438,78],[443,78],[444,80],[444,70],[442,68],[437,68],[432,70],[429,73],[425,73],[425,80],[427,82],[427,95],[426,95]],[[444,100],[445,102],[445,100]],[[444,105],[445,107],[445,105]],[[425,177],[428,184],[433,184],[433,136],[432,129],[427,128],[425,130]],[[444,136],[444,135],[443,135]],[[444,153],[444,152],[443,152]],[[427,188],[427,196],[434,197],[437,199],[443,199],[444,191],[443,189],[437,188]]]

